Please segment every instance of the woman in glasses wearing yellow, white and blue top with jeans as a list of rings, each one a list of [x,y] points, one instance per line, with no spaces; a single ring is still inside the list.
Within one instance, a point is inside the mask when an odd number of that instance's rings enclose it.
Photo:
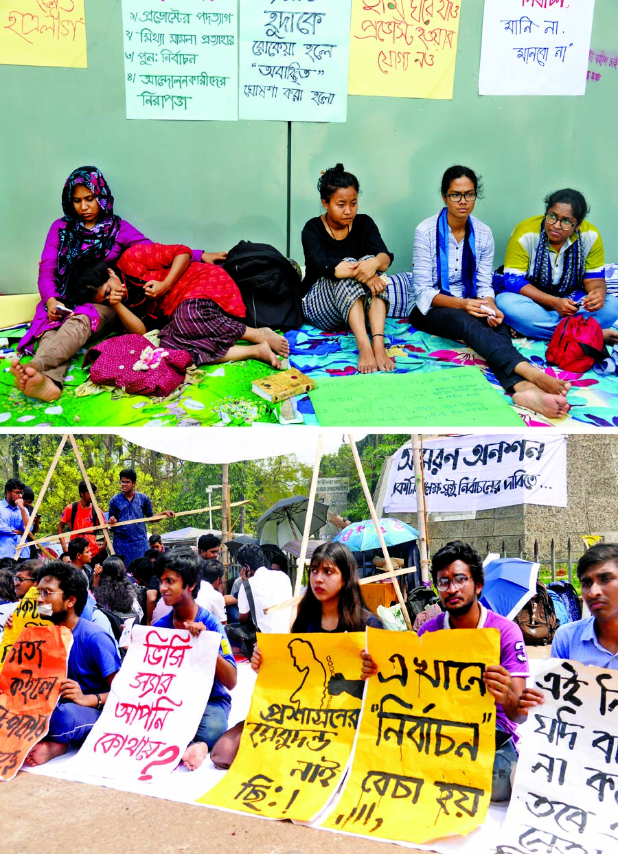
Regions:
[[[510,236],[498,307],[515,331],[542,341],[561,318],[592,315],[605,343],[615,344],[618,331],[609,327],[618,299],[607,295],[603,242],[586,220],[586,199],[578,190],[556,190],[544,203],[544,216],[524,219]]]

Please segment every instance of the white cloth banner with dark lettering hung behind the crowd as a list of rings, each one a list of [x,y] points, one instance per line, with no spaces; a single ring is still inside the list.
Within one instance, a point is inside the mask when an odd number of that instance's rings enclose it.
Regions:
[[[567,438],[560,434],[450,436],[425,442],[422,460],[427,512],[515,504],[567,506]],[[392,459],[384,509],[416,510],[410,443]]]

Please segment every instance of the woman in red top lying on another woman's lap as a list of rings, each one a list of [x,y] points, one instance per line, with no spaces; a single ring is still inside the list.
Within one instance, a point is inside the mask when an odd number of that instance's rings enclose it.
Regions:
[[[122,278],[104,262],[79,267],[68,301],[109,305],[127,332],[161,329],[161,346],[186,350],[197,366],[257,359],[280,368],[290,352],[284,336],[244,324],[238,285],[220,266],[191,261],[186,246],[132,246],[118,270]]]

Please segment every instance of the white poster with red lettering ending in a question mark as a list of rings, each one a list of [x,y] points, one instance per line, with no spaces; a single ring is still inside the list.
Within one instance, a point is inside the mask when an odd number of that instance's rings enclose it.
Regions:
[[[101,717],[74,758],[82,773],[151,781],[192,740],[215,677],[221,635],[136,626]]]

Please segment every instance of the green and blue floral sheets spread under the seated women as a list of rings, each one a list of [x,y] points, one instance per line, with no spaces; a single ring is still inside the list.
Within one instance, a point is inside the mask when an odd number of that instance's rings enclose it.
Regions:
[[[16,342],[22,332],[15,333],[11,343]],[[2,335],[8,333],[4,331]],[[389,354],[395,358],[396,372],[441,371],[445,367],[475,365],[480,367],[488,382],[499,389],[485,360],[461,343],[416,331],[407,320],[387,319],[386,336]],[[309,374],[316,383],[320,382],[320,377],[345,377],[356,372],[358,353],[351,333],[326,333],[303,325],[286,337],[290,342],[291,365]],[[600,377],[594,371],[585,374],[558,371],[545,364],[543,342],[520,338],[515,346],[534,365],[573,384],[568,395],[571,410],[567,418],[550,422],[519,409],[524,424],[556,424],[566,430],[574,422],[592,427],[618,427],[618,375]],[[199,383],[182,385],[170,399],[157,402],[143,396],[125,395],[118,389],[87,397],[76,396],[75,390],[88,378],[88,371],[81,368],[83,357],[83,351],[76,355],[62,398],[51,404],[26,398],[15,389],[9,372],[10,357],[0,360],[0,427],[237,426],[256,421],[272,424],[280,421],[280,404],[263,401],[251,392],[252,381],[270,372],[262,362],[249,360],[204,368]],[[511,402],[509,395],[504,396]],[[297,407],[305,424],[318,424],[308,396],[298,398]]]

